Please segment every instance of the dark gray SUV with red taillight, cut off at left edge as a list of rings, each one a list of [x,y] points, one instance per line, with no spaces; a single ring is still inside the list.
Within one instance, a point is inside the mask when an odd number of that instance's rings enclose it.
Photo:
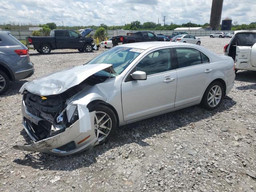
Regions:
[[[28,48],[10,32],[0,30],[0,94],[8,89],[10,81],[28,78],[33,73]]]

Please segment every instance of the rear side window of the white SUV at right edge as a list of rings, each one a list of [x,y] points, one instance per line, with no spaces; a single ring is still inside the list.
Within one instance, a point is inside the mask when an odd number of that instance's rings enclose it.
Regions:
[[[238,33],[236,34],[237,46],[253,46],[256,43],[256,33]]]

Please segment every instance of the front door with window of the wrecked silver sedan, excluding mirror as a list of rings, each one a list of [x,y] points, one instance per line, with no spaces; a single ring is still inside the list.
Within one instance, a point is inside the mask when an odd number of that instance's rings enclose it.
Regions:
[[[172,70],[169,48],[149,52],[129,72],[122,82],[124,121],[174,108],[177,73]],[[135,71],[144,71],[146,80],[133,80]]]

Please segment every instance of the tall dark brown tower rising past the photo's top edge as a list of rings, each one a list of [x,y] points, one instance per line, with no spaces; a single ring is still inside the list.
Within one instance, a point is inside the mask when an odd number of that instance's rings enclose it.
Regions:
[[[212,0],[210,26],[212,30],[219,30],[223,0]]]

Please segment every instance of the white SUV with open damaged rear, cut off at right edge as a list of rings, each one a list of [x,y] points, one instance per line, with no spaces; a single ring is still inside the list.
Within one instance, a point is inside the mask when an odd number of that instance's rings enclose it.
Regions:
[[[224,52],[233,58],[236,71],[256,71],[256,30],[235,31]]]

